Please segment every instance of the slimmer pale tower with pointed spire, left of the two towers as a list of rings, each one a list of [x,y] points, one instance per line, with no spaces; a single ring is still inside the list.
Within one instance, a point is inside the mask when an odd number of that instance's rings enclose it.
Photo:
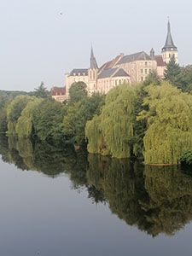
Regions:
[[[91,96],[97,90],[97,74],[98,74],[98,66],[96,63],[96,58],[93,53],[93,48],[91,46],[90,50],[90,68],[88,69],[88,93]]]

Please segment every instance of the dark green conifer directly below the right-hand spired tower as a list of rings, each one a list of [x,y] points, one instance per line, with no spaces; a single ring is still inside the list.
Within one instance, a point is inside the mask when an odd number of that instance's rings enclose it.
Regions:
[[[176,63],[174,55],[172,55],[171,60],[166,66],[164,77],[166,80],[170,81],[172,84],[175,84],[177,76],[181,72],[181,67]]]

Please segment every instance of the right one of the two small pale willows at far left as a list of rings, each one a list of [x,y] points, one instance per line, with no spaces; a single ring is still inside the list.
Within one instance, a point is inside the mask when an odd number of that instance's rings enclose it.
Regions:
[[[37,111],[39,104],[43,99],[33,98],[33,101],[26,104],[19,119],[17,120],[15,131],[18,137],[31,137],[32,136],[32,118]]]

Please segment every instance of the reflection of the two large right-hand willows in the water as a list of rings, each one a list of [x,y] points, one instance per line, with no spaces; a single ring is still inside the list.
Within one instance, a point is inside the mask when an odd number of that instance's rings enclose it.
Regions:
[[[179,167],[144,167],[93,154],[89,164],[89,183],[102,189],[111,211],[127,224],[152,236],[173,235],[192,219],[192,178]]]

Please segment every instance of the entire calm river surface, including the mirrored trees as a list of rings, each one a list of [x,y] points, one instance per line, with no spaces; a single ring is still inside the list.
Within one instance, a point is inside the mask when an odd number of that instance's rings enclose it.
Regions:
[[[0,139],[0,255],[191,255],[192,177]]]

